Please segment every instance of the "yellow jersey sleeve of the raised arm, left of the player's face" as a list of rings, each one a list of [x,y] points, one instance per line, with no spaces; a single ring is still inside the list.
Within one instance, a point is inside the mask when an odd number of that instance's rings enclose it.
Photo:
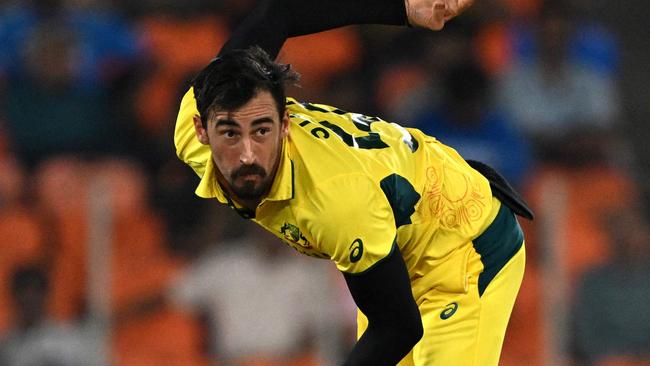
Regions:
[[[190,88],[183,96],[178,117],[176,118],[174,145],[176,146],[176,155],[185,164],[192,167],[199,177],[203,177],[211,155],[210,147],[203,145],[196,138],[193,118],[198,114],[196,101],[194,100],[194,90]]]

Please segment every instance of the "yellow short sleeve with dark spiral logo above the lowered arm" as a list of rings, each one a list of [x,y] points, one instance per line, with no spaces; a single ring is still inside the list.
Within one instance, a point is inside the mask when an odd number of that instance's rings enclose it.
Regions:
[[[378,183],[363,174],[320,183],[303,227],[318,249],[346,273],[362,273],[390,254],[397,229]]]

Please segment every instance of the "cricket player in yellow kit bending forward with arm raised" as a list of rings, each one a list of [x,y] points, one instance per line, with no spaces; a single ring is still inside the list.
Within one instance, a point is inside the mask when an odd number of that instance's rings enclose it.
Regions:
[[[181,102],[174,139],[201,178],[196,194],[343,273],[359,308],[345,365],[497,365],[524,271],[515,214],[532,213],[497,172],[434,137],[287,97],[297,74],[273,59],[287,37],[438,30],[468,6],[264,0]]]

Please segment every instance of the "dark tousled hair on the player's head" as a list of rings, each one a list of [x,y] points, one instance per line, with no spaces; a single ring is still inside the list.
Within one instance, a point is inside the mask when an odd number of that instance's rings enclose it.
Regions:
[[[275,100],[280,117],[285,111],[285,89],[300,76],[291,65],[274,62],[260,47],[228,51],[215,58],[192,82],[194,98],[205,127],[211,113],[233,110],[260,91]]]

